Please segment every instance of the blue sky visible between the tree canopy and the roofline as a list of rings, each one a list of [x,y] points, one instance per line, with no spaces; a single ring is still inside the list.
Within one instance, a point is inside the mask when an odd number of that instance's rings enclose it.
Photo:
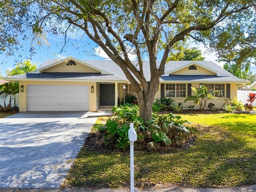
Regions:
[[[81,39],[81,40],[76,40]],[[87,36],[82,36],[78,33],[78,38],[76,38],[76,34],[70,34],[68,36],[68,43],[64,47],[64,51],[60,53],[62,46],[64,44],[64,36],[62,35],[47,35],[48,43],[50,44],[49,47],[47,46],[36,46],[36,54],[32,56],[32,62],[37,63],[38,66],[44,63],[48,59],[62,59],[68,56],[72,56],[74,58],[80,60],[101,60],[107,58],[106,54],[97,49],[97,45],[90,40]],[[209,53],[206,51],[206,48],[203,44],[191,44],[190,47],[198,47],[203,52],[203,56],[206,58],[205,60],[213,61],[216,64],[222,66],[223,63],[218,63],[216,61],[217,57],[215,53]],[[22,55],[22,58],[19,58],[19,61],[22,61],[29,57],[29,50],[30,46],[26,45],[25,50],[20,50],[15,52],[15,56],[6,56],[5,54],[0,55],[0,72],[2,76],[5,76],[6,70],[11,70],[15,66],[15,60],[17,60],[18,55]],[[95,48],[98,51],[95,51]],[[163,52],[158,54],[158,60],[160,60]],[[134,59],[134,56],[130,56],[131,59]],[[253,73],[256,72],[256,66],[251,66],[251,70]]]

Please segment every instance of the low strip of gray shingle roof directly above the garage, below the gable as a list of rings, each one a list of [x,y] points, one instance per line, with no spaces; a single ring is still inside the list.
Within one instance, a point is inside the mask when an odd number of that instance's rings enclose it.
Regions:
[[[123,80],[114,75],[100,73],[72,73],[72,72],[43,72],[26,73],[12,76],[11,78],[45,78],[45,79],[77,79],[77,80]]]

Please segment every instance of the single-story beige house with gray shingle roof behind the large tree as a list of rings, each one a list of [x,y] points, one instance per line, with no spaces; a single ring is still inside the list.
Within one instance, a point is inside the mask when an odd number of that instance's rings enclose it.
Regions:
[[[149,62],[145,61],[143,67],[149,80]],[[5,80],[20,83],[20,111],[97,111],[118,105],[124,84],[125,94],[135,93],[121,68],[111,60],[47,60],[32,72]],[[221,108],[226,98],[237,96],[237,84],[247,82],[211,61],[170,61],[155,99],[170,97],[184,102],[193,94],[191,87],[204,84],[211,91],[219,91],[218,99],[209,102]],[[192,104],[189,101],[184,106]]]

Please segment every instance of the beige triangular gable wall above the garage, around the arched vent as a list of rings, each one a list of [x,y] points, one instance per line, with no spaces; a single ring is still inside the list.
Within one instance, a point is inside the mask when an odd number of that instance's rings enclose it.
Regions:
[[[66,62],[62,62],[58,65],[52,66],[50,68],[47,68],[45,70],[42,70],[41,72],[86,72],[86,73],[100,73],[99,71],[90,68],[88,66],[85,66],[84,64],[81,64],[79,62],[76,62],[76,65],[74,66],[68,66]]]

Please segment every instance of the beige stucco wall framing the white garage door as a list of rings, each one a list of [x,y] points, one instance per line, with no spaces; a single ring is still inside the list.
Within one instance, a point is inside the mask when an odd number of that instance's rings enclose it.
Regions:
[[[24,92],[20,92],[20,112],[27,111],[28,85],[87,85],[89,89],[89,111],[96,111],[96,82],[68,82],[68,81],[20,81],[20,86],[24,86]],[[94,92],[91,92],[91,86],[94,86]]]

